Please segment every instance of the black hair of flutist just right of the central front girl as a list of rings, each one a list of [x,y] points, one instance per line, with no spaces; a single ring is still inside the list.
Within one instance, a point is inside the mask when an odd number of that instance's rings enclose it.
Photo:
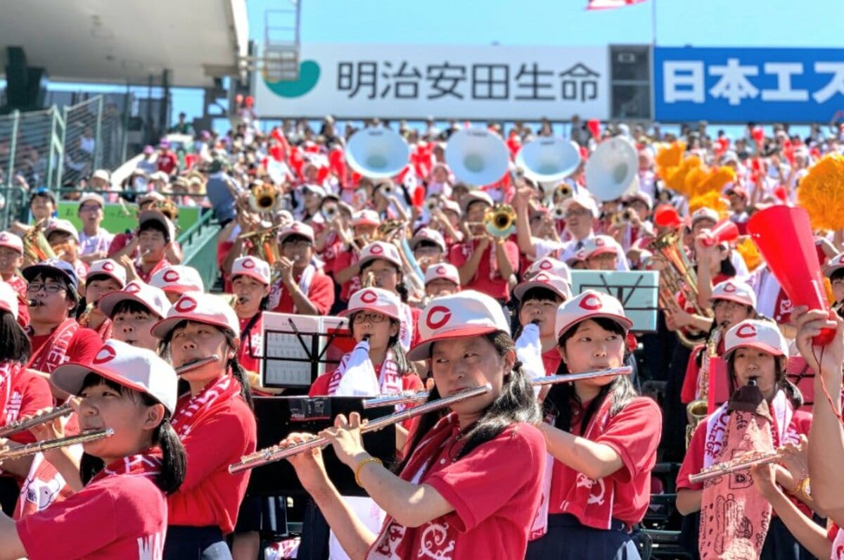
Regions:
[[[611,333],[618,334],[621,337],[625,337],[627,335],[627,331],[624,327],[622,327],[619,323],[616,323],[611,318],[598,317],[593,318],[592,321],[598,323],[602,329],[609,330]],[[557,345],[560,348],[565,348],[565,342],[574,336],[578,324],[580,323],[575,323],[566,330],[565,333],[560,335],[560,339],[557,340]],[[625,350],[624,360],[622,360],[623,362],[627,360],[628,354],[629,352]],[[569,373],[569,368],[565,365],[565,362],[560,361],[560,367],[557,368],[557,374],[565,375],[566,373]],[[587,428],[589,421],[592,420],[592,416],[595,416],[598,409],[600,409],[601,405],[603,405],[603,400],[605,400],[607,395],[610,393],[612,393],[613,400],[613,404],[609,408],[610,416],[618,414],[630,403],[631,400],[639,396],[636,392],[636,388],[633,387],[633,383],[630,382],[629,376],[616,376],[610,383],[604,385],[598,391],[598,396],[592,399],[592,402],[589,403],[586,414],[583,415],[583,419],[580,422],[581,431]],[[565,432],[571,432],[571,410],[573,406],[580,405],[582,405],[582,403],[580,397],[577,396],[574,383],[557,383],[555,385],[551,385],[548,396],[545,397],[544,410],[546,414],[555,416],[555,427],[560,428],[560,430]]]

